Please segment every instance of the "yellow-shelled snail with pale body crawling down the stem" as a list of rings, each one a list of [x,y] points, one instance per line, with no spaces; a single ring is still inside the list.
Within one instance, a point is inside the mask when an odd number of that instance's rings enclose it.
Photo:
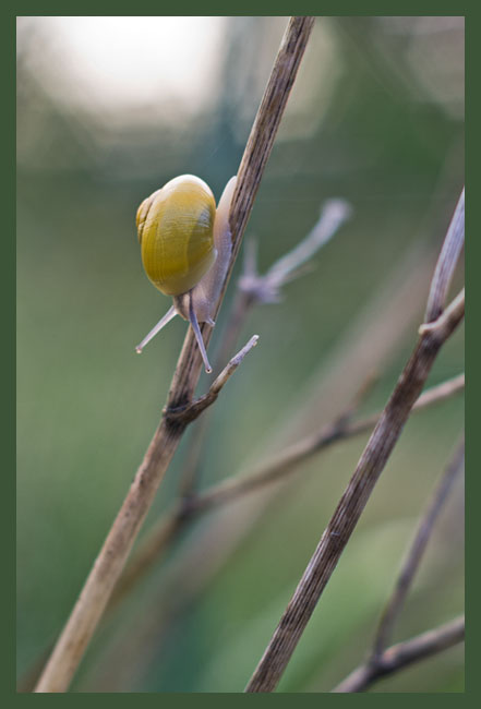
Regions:
[[[135,348],[143,348],[172,317],[189,321],[205,371],[212,372],[199,323],[214,326],[214,310],[232,250],[229,208],[237,178],[227,183],[216,209],[211,188],[193,175],[167,182],[137,209],[142,263],[158,290],[173,304]]]

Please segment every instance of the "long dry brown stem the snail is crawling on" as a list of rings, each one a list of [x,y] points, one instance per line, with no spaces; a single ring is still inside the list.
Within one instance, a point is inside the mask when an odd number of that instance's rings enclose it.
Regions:
[[[229,212],[232,255],[216,313],[224,298],[313,23],[314,17],[310,16],[290,19],[257,111],[239,168],[237,188]],[[212,329],[203,325],[202,333],[207,345]],[[167,411],[191,404],[201,368],[201,356],[192,331],[189,329],[170,385]],[[36,693],[61,693],[68,689],[185,426],[184,420],[172,422],[164,414],[81,596],[40,676],[35,688]]]

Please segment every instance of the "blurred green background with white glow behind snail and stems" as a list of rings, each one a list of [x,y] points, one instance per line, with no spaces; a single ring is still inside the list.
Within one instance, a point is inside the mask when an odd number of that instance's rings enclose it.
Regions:
[[[178,319],[134,352],[169,307],[143,274],[136,208],[184,172],[219,196],[286,24],[19,19],[21,678],[75,601],[158,423],[185,334]],[[253,333],[260,345],[216,404],[202,486],[332,420],[372,368],[378,380],[362,411],[384,405],[416,340],[462,175],[462,17],[317,19],[248,226],[261,271],[308,233],[325,199],[347,199],[353,215],[280,304],[251,314],[239,347]],[[462,346],[459,329],[430,384],[462,371]],[[308,422],[298,420],[306,400]],[[459,395],[409,421],[279,690],[328,692],[363,659],[461,428]],[[249,497],[193,526],[103,626],[72,690],[242,692],[365,440],[303,465],[257,512]],[[176,497],[189,442],[146,529]],[[459,482],[395,640],[461,612],[462,530]],[[372,692],[462,689],[456,647]]]

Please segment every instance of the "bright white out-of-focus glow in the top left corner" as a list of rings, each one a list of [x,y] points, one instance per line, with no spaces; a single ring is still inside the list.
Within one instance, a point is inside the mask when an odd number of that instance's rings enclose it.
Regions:
[[[215,94],[224,17],[24,17],[43,43],[29,56],[58,98],[101,111],[199,110]]]

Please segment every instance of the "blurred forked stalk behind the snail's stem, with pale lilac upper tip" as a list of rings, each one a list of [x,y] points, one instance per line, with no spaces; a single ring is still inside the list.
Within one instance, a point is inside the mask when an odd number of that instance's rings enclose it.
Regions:
[[[245,248],[244,250],[244,268],[240,276],[241,283],[239,284],[241,287],[238,287],[235,304],[227,324],[227,333],[223,335],[220,351],[217,354],[219,362],[225,361],[228,353],[236,346],[237,337],[249,312],[251,311],[251,308],[256,303],[264,302],[266,296],[268,302],[270,301],[270,296],[274,299],[279,299],[280,288],[285,284],[289,283],[292,277],[300,274],[301,264],[299,263],[299,256],[305,255],[306,243],[312,247],[311,242],[313,236],[317,235],[316,238],[318,241],[316,248],[321,248],[329,238],[332,238],[335,230],[340,226],[342,217],[347,218],[348,216],[349,205],[346,203],[339,202],[339,200],[326,202],[321,212],[320,219],[311,232],[302,239],[292,251],[289,251],[288,254],[281,256],[280,261],[276,261],[263,276],[257,275],[255,253],[252,250],[253,242],[251,241],[245,244],[245,247],[251,245],[251,248]],[[301,245],[302,251],[300,250]],[[425,255],[424,262],[429,262]],[[279,268],[279,263],[280,265],[282,263],[285,264],[284,269]],[[419,263],[418,254],[418,260],[414,262],[418,268]],[[288,268],[286,268],[286,266],[288,266]],[[279,278],[279,272],[281,278]],[[272,279],[273,273],[275,274],[274,283]],[[412,271],[409,271],[408,274],[412,279]],[[399,278],[395,278],[395,280],[397,281]],[[418,280],[421,281],[421,278],[418,278]],[[405,283],[404,279],[401,279],[401,283]],[[408,287],[408,291],[411,295],[416,295],[419,290],[419,287],[416,288],[409,280],[405,283],[405,287]],[[404,311],[399,314],[406,316],[406,311],[408,313],[410,312],[409,303],[406,302],[406,298],[402,297],[402,293],[399,296],[399,299],[404,301],[406,305]],[[416,301],[416,299],[412,300],[413,302]],[[386,299],[383,299],[383,302],[386,303]],[[380,327],[383,326],[383,322],[386,320],[389,322],[388,313],[376,315],[376,323]],[[396,333],[397,337],[399,337],[399,332],[404,332],[406,323],[401,326],[398,319],[399,327]],[[387,323],[384,327],[386,326]],[[396,345],[396,341],[397,340],[394,341],[394,345]],[[352,348],[350,348],[350,351],[352,351]],[[377,347],[371,354],[372,361],[375,361],[375,354],[378,354]],[[356,351],[353,351],[352,357],[356,361]],[[216,366],[216,369],[218,369],[218,366]],[[420,396],[413,410],[419,410],[420,408],[441,401],[445,397],[449,397],[462,389],[464,385],[464,374],[448,380],[443,384],[438,384]],[[352,413],[354,413],[354,411],[352,411]],[[218,504],[223,504],[224,502],[236,501],[244,493],[249,494],[260,488],[262,489],[265,484],[276,482],[285,476],[290,474],[290,472],[294,472],[304,459],[317,452],[322,452],[336,441],[341,441],[344,437],[353,436],[363,433],[364,431],[369,431],[375,425],[378,417],[380,413],[376,413],[372,417],[366,417],[360,421],[350,423],[349,417],[346,417],[346,411],[342,411],[334,422],[323,426],[318,433],[301,438],[299,442],[296,442],[296,444],[284,448],[280,454],[266,459],[264,462],[261,462],[261,465],[256,464],[253,469],[249,470],[246,473],[227,478],[219,484],[219,486],[214,485],[201,495],[196,495],[193,489],[197,477],[201,440],[209,420],[208,412],[205,413],[196,424],[194,438],[191,438],[190,441],[191,452],[181,477],[179,495],[181,498],[185,497],[188,500],[182,500],[179,505],[170,510],[170,513],[167,513],[166,516],[161,517],[154,524],[147,538],[134,552],[127,572],[122,574],[108,603],[108,609],[111,610],[117,606],[118,602],[122,600],[136,581],[148,572],[149,567],[161,558],[163,553],[166,551],[168,545],[177,539],[178,533],[183,530],[184,525],[189,524],[191,520],[193,521],[197,515],[207,512],[211,506],[216,507]],[[339,425],[340,422],[342,422],[342,426]],[[339,434],[339,437],[337,437],[337,434]],[[194,444],[193,441],[195,442]],[[50,644],[41,653],[40,658],[34,663],[34,665],[32,665],[32,669],[29,669],[20,680],[19,692],[32,692],[46,661],[48,660],[52,647],[53,644]]]

